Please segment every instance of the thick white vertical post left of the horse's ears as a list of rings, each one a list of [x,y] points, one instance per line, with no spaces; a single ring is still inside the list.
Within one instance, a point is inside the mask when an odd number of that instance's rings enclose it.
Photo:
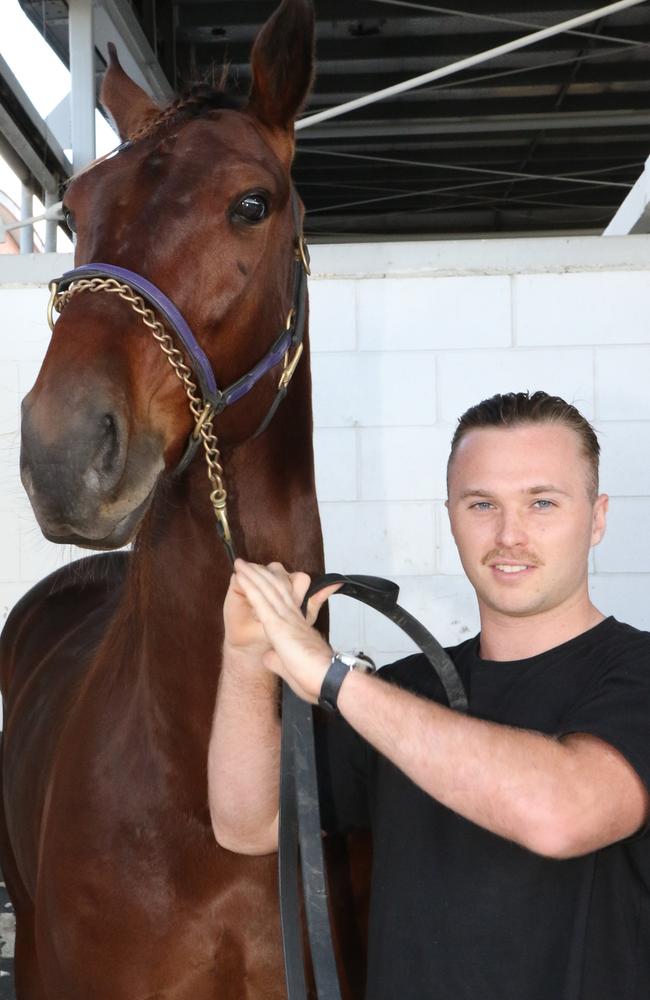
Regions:
[[[72,167],[76,173],[95,159],[93,0],[68,0],[68,30]]]

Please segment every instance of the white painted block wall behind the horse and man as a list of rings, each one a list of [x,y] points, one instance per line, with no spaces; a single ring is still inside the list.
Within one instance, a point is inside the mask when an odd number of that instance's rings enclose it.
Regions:
[[[607,536],[601,609],[650,629],[650,236],[315,246],[310,283],[327,566],[390,576],[444,643],[478,619],[443,506],[460,413],[545,389],[594,422]],[[69,258],[0,260],[0,619],[78,554],[41,537],[19,483],[19,400],[48,340],[45,282]],[[333,639],[387,660],[383,618],[332,602]]]

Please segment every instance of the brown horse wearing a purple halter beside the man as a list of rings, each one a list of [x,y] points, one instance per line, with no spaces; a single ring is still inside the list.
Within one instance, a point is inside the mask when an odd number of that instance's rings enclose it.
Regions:
[[[292,302],[293,121],[313,15],[284,0],[247,102],[161,111],[113,55],[122,139],[65,195],[76,265],[139,272],[184,315],[221,386],[255,366]],[[306,352],[307,353],[307,352]],[[308,359],[270,426],[281,365],[214,420],[238,552],[318,572]],[[107,552],[54,574],[2,639],[2,868],[20,1000],[280,1000],[276,858],[220,849],[206,753],[230,566],[193,418],[141,317],[72,295],[24,402],[23,481],[47,538]]]

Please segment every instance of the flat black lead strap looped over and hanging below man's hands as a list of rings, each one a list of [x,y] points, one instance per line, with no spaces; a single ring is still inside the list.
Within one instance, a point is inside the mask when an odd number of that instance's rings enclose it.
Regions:
[[[438,675],[449,707],[467,711],[467,695],[454,663],[440,643],[416,618],[397,603],[399,587],[376,576],[327,573],[312,581],[307,601],[325,587],[342,583],[337,591],[379,611],[394,622],[421,649]],[[280,913],[288,1000],[307,1000],[301,914],[307,920],[317,1000],[341,1000],[325,877],[321,836],[314,719],[311,705],[283,685],[282,753],[279,835]],[[300,880],[302,897],[300,899]]]

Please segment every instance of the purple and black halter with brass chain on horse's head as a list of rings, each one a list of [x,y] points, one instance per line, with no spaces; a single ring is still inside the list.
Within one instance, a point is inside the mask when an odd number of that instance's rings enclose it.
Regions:
[[[180,475],[194,458],[200,443],[203,443],[208,477],[213,485],[210,500],[217,518],[219,535],[231,562],[235,560],[235,549],[226,514],[227,493],[223,484],[223,469],[217,439],[212,431],[212,420],[245,396],[259,380],[284,359],[282,373],[278,381],[273,402],[265,414],[253,437],[266,430],[280,403],[287,394],[289,383],[296,370],[303,350],[305,333],[305,306],[307,300],[307,275],[309,254],[302,235],[298,197],[291,191],[291,210],[294,220],[296,240],[294,246],[293,301],[287,316],[285,329],[276,337],[266,354],[245,375],[236,379],[227,389],[219,389],[212,365],[192,333],[189,324],[164,292],[153,282],[135,271],[115,264],[82,264],[72,271],[66,271],[60,278],[50,282],[48,321],[54,329],[54,310],[61,312],[71,296],[79,291],[108,291],[116,293],[128,302],[149,327],[154,338],[183,383],[188,396],[190,411],[195,426],[183,456],[174,475]],[[151,308],[147,308],[147,306]],[[152,310],[161,318],[156,319]],[[167,333],[170,329],[180,344],[182,351],[174,346]],[[293,352],[293,356],[292,355]],[[198,386],[192,381],[196,378]]]

